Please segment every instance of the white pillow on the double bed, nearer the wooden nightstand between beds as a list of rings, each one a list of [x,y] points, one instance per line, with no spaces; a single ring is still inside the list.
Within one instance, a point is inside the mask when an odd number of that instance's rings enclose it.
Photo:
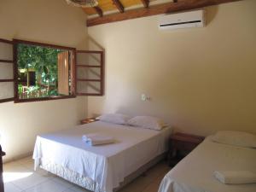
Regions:
[[[150,116],[137,116],[128,120],[128,125],[139,126],[146,129],[161,130],[166,126],[165,122],[161,119]]]

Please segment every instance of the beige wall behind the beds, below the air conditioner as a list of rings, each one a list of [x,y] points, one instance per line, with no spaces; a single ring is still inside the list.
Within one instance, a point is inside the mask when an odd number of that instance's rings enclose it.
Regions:
[[[159,31],[159,16],[88,28],[106,49],[106,96],[89,97],[89,115],[154,115],[201,135],[256,132],[255,10],[254,0],[207,8],[205,28]]]

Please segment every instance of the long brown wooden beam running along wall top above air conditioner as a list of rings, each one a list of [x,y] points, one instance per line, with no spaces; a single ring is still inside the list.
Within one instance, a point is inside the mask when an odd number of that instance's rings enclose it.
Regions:
[[[96,26],[104,23],[116,22],[121,20],[131,20],[140,17],[151,15],[160,15],[183,11],[187,9],[199,9],[207,6],[217,5],[220,3],[230,3],[242,0],[179,0],[177,3],[164,3],[150,6],[148,9],[131,9],[125,11],[123,14],[105,15],[104,17],[97,17],[87,20],[87,26]]]

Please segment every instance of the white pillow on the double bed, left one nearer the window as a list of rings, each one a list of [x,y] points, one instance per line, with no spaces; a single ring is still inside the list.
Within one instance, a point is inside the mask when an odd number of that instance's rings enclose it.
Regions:
[[[99,119],[100,121],[105,121],[113,124],[125,125],[127,124],[128,119],[131,119],[131,118],[121,113],[108,113],[108,114],[102,114],[97,119]]]

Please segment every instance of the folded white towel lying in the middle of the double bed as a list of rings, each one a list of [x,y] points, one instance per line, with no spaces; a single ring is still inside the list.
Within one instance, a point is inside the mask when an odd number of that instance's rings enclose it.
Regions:
[[[89,144],[90,146],[114,143],[113,137],[98,134],[84,135],[82,139],[85,143]]]

